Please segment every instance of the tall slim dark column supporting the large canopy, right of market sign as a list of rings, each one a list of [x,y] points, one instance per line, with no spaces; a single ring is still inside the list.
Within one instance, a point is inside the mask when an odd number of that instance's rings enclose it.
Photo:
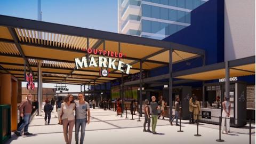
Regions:
[[[171,48],[169,51],[169,121],[171,122],[172,119],[172,51]]]

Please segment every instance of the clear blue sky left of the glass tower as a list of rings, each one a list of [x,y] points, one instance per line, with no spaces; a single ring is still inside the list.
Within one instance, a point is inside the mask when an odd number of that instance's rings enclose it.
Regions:
[[[37,20],[37,0],[1,0],[0,14]],[[42,21],[117,33],[117,0],[41,0]]]

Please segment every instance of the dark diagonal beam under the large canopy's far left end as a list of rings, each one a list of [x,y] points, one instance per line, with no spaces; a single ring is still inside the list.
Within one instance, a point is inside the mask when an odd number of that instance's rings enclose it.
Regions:
[[[14,42],[15,42],[15,46],[17,47],[17,49],[18,49],[20,55],[21,55],[22,58],[24,59],[24,61],[25,61],[26,65],[27,65],[27,67],[28,67],[30,73],[31,73],[31,74],[33,75],[33,77],[34,77],[34,73],[33,73],[32,69],[30,68],[28,59],[26,58],[26,56],[25,56],[25,54],[24,54],[24,52],[23,52],[21,46],[20,46],[19,44],[17,44],[17,43],[19,42],[19,39],[18,39],[17,35],[15,34],[14,28],[11,28],[11,27],[7,27],[7,28],[8,28],[8,30],[9,30],[9,33],[11,34],[11,36],[12,36]]]

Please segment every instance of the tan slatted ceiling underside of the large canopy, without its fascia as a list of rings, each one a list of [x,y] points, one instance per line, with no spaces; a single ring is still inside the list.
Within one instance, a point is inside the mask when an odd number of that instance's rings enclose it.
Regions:
[[[16,44],[20,45],[35,76],[37,76],[37,61],[42,61],[41,67],[44,82],[59,83],[65,81],[66,83],[84,84],[83,81],[87,78],[88,81],[97,79],[97,83],[102,83],[122,76],[120,71],[114,69],[109,69],[111,71],[110,77],[100,77],[100,68],[90,67],[75,70],[74,58],[85,57],[87,47],[103,50],[102,39],[22,28],[14,28],[14,33],[19,41]],[[7,41],[0,41],[0,65],[8,70],[9,73],[23,79],[25,60],[21,57],[22,55],[13,42],[13,37],[7,27],[0,26],[0,38],[7,39]],[[120,52],[124,55],[120,60],[128,64],[133,63],[133,68],[130,70],[131,74],[139,73],[139,59],[163,50],[162,47],[105,40],[106,51],[119,52],[118,45],[120,45]],[[173,54],[174,61],[195,56],[195,54],[181,51],[175,51]],[[159,64],[159,62],[169,62],[169,57],[167,56],[168,51],[148,58],[151,61],[143,62],[142,69],[164,66],[165,64]],[[28,68],[26,68],[26,71],[28,71]]]

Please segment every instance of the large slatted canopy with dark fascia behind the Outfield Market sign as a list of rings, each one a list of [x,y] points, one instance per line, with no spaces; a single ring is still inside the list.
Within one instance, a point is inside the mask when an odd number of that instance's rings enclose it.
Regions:
[[[120,60],[132,66],[131,74],[166,66],[170,61],[204,58],[205,53],[195,47],[156,39],[0,15],[1,72],[21,81],[25,69],[37,79],[38,63],[42,63],[45,83],[97,85],[122,77],[115,69],[110,69],[109,77],[100,77],[98,67],[76,69],[74,58],[93,56],[86,53],[88,48],[122,52],[125,57]]]

